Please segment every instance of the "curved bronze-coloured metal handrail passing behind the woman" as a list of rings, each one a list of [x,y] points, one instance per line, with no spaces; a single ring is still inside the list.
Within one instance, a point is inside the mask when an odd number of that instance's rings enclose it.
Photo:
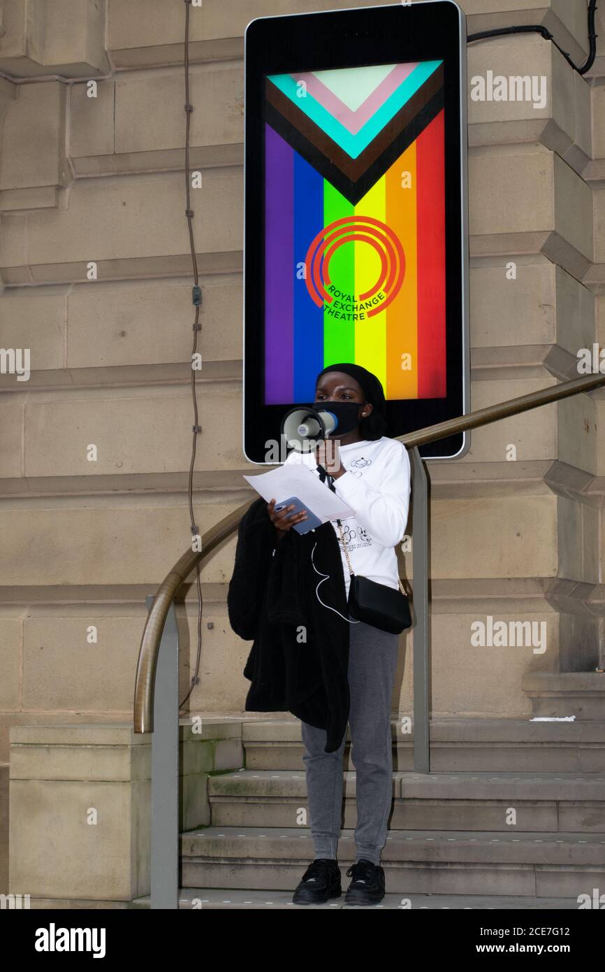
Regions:
[[[602,374],[588,375],[586,378],[573,378],[571,381],[562,382],[560,385],[553,386],[553,388],[531,392],[529,395],[522,395],[518,399],[489,405],[477,412],[469,412],[467,415],[448,419],[446,422],[428,426],[426,429],[419,429],[417,432],[393,437],[411,449],[426,445],[428,442],[436,442],[441,438],[447,438],[449,435],[465,432],[468,429],[479,429],[491,422],[508,418],[510,415],[518,415],[530,408],[537,408],[551,401],[567,399],[571,395],[578,395],[580,392],[590,392],[602,385],[605,385],[605,375]],[[134,732],[150,733],[153,731],[153,687],[157,654],[166,616],[175,594],[195,565],[198,562],[204,562],[222,540],[235,533],[240,520],[256,499],[253,498],[238,506],[214,527],[211,527],[202,538],[202,549],[199,551],[188,550],[159,585],[145,624],[139,649],[134,689]]]

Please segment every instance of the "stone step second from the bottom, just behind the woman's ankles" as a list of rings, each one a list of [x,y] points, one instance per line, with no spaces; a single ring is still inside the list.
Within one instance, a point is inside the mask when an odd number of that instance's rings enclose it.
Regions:
[[[292,889],[315,854],[306,827],[211,826],[182,834],[184,887]],[[339,862],[354,859],[344,829]],[[605,886],[605,833],[390,831],[389,892],[578,898]]]

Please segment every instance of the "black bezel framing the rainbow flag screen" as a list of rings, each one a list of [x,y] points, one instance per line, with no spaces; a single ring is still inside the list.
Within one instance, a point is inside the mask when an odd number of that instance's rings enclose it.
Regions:
[[[465,68],[464,19],[451,0],[368,7],[287,17],[259,17],[246,30],[245,240],[244,240],[244,454],[265,464],[266,442],[280,439],[281,421],[293,404],[264,404],[264,81],[269,74],[444,61],[446,153],[445,399],[387,400],[388,434],[402,435],[467,411],[468,244],[463,233],[466,172],[460,124],[461,68]],[[361,55],[361,52],[363,54]],[[465,120],[466,113],[462,115]],[[465,137],[465,126],[464,126]],[[259,283],[260,282],[260,283]],[[310,390],[309,402],[313,401]],[[424,458],[459,457],[467,436],[452,435],[420,448]]]

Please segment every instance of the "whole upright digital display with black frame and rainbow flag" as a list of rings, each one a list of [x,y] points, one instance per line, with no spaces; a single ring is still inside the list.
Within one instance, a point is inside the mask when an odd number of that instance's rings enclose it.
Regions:
[[[387,435],[469,405],[466,27],[451,0],[258,17],[245,35],[244,453],[317,376],[382,383]],[[469,434],[427,443],[454,458]],[[273,453],[275,455],[275,453]],[[283,457],[284,461],[286,456]]]

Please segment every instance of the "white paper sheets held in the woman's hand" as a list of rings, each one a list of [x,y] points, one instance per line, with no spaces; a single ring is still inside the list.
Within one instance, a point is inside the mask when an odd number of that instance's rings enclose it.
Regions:
[[[355,511],[341,500],[336,493],[322,483],[319,476],[306,466],[292,465],[260,472],[255,476],[244,476],[251,486],[269,503],[275,497],[276,505],[284,503],[290,496],[297,496],[305,509],[319,516],[321,523],[326,520],[346,520]]]

